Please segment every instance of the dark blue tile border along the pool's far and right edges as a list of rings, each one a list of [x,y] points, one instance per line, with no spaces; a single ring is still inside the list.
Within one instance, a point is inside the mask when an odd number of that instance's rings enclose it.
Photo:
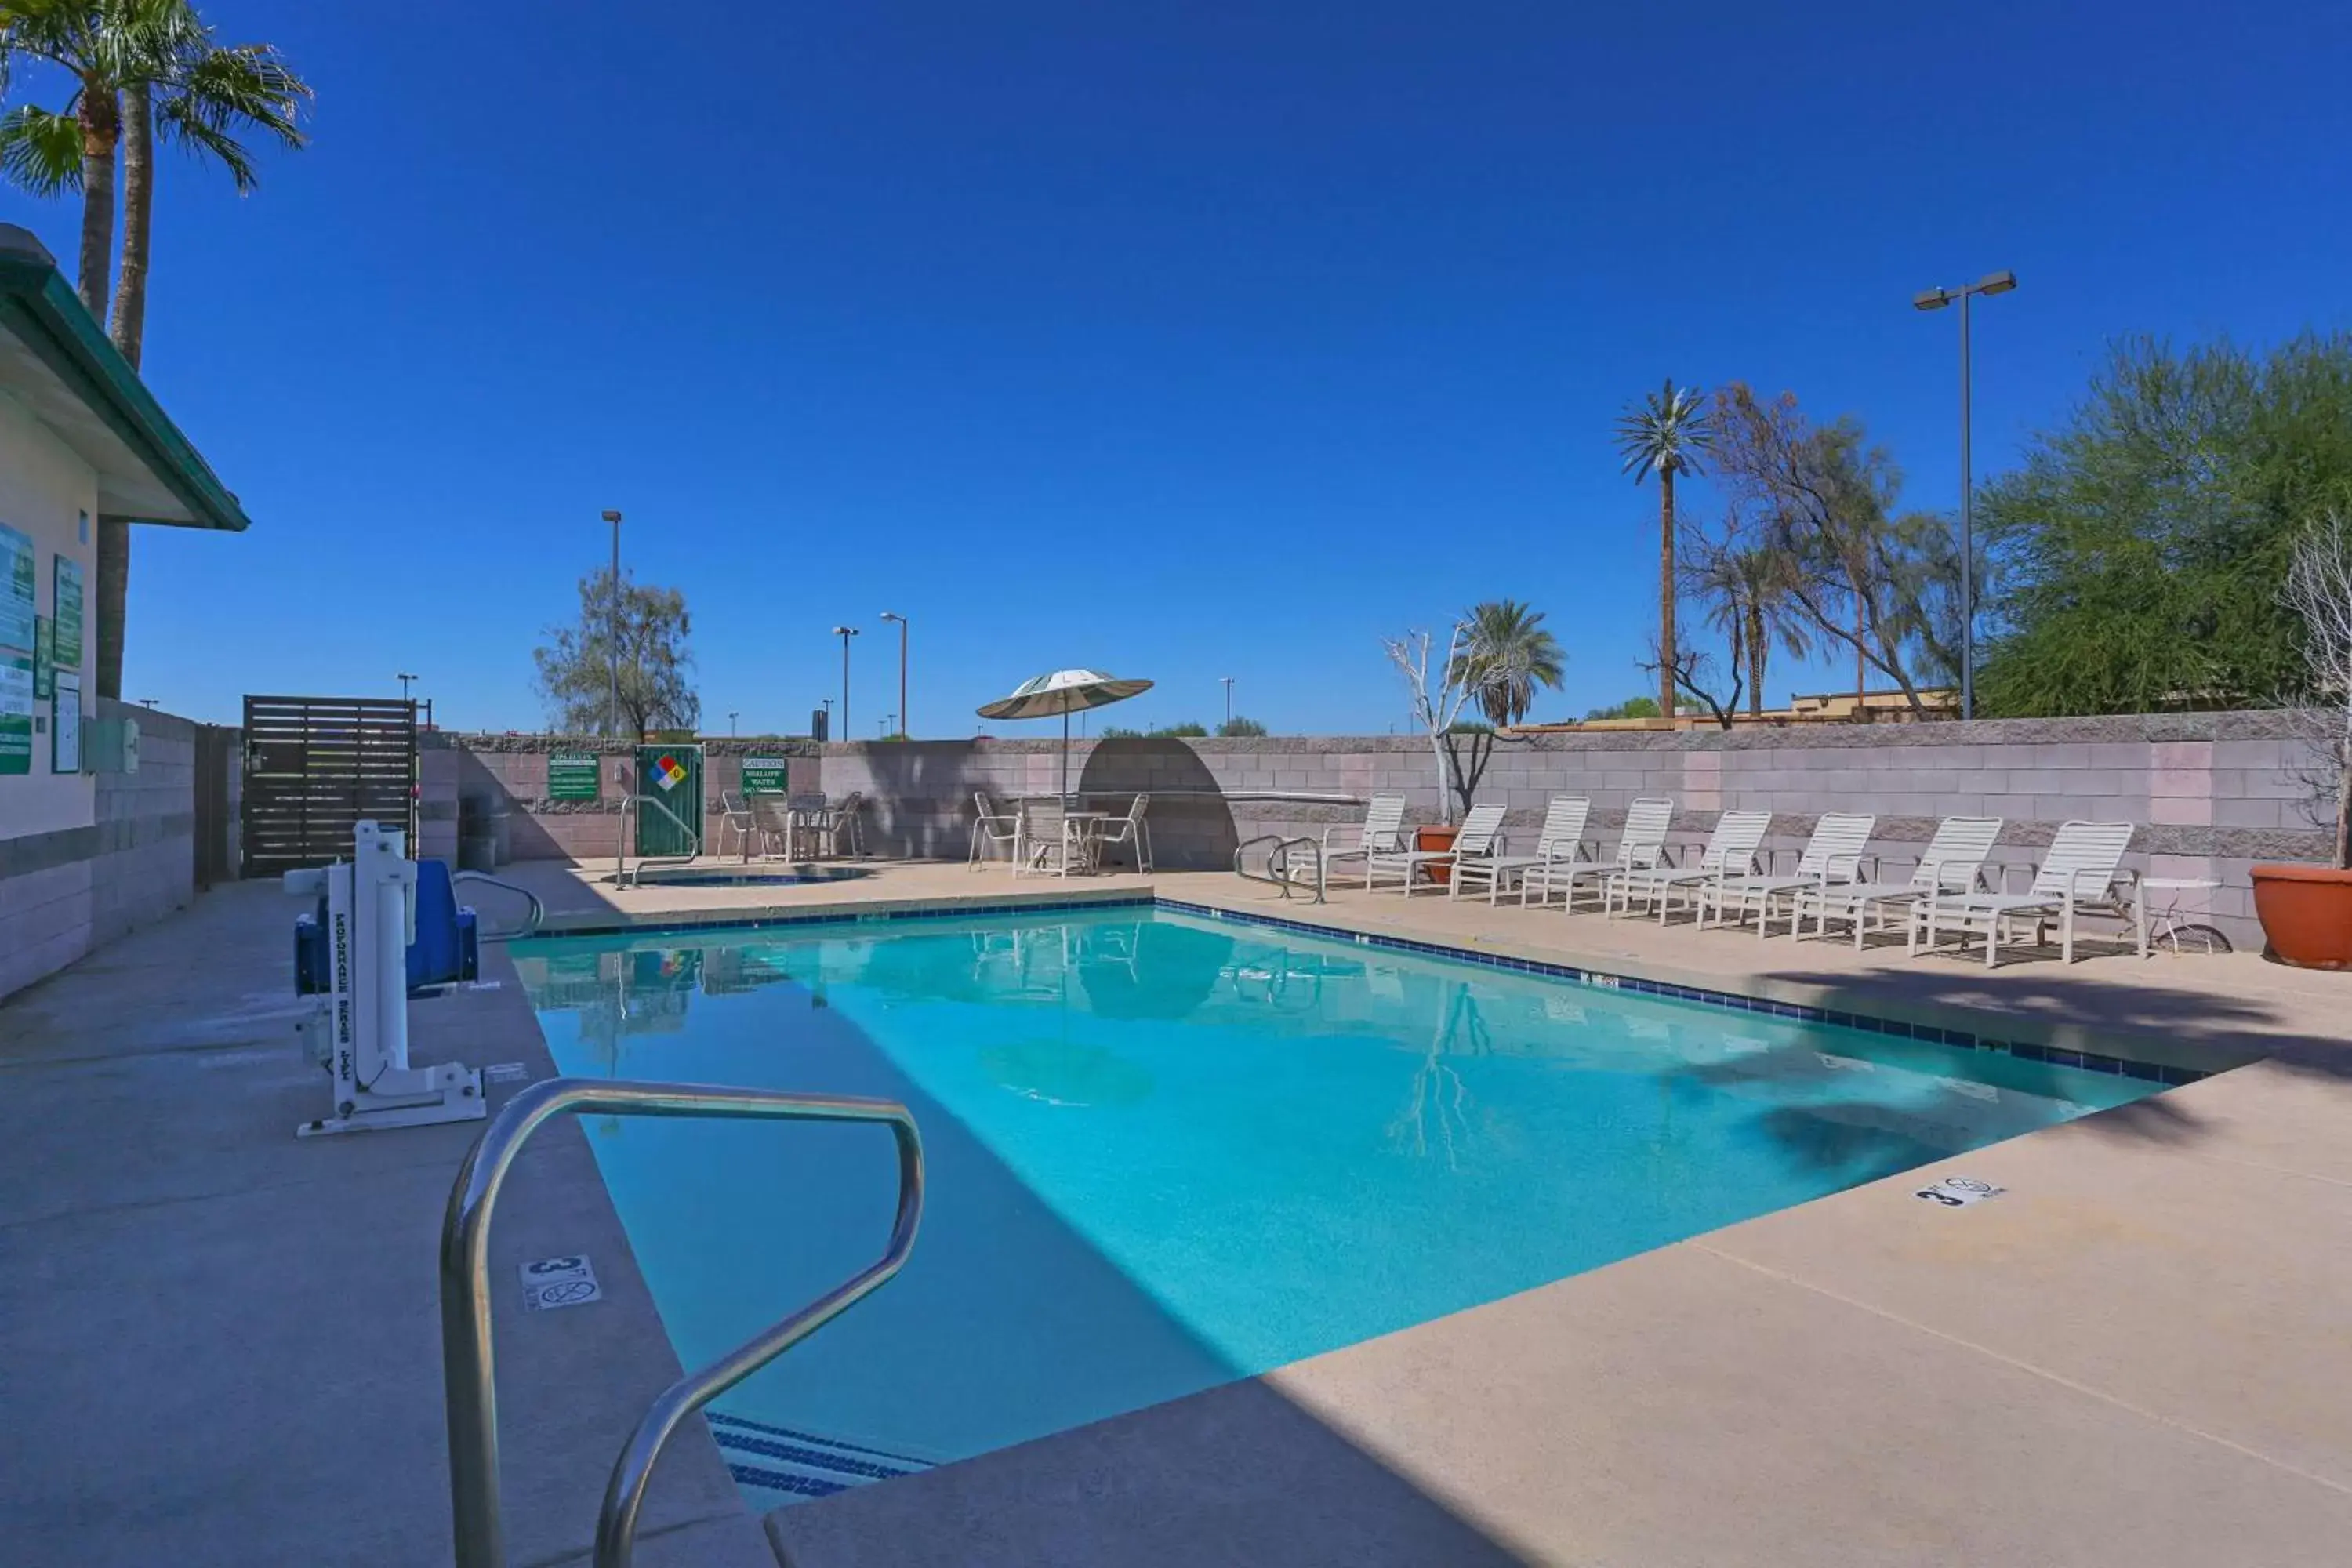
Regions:
[[[1432,959],[1449,959],[1456,964],[1479,964],[1484,969],[1505,969],[1526,976],[1548,976],[1552,980],[1571,980],[1576,985],[1592,985],[1599,990],[1623,990],[1637,997],[1665,997],[1670,1001],[1696,1001],[1700,1006],[1717,1006],[1733,1013],[1759,1013],[1764,1018],[1790,1018],[1795,1023],[1825,1023],[1839,1030],[1863,1030],[1865,1034],[1886,1034],[1891,1039],[1917,1039],[1931,1046],[1959,1046],[1964,1051],[1990,1051],[1994,1056],[2013,1056],[2025,1063],[2049,1063],[2051,1067],[2079,1067],[2084,1072],[2105,1072],[2110,1077],[2140,1079],[2145,1084],[2194,1084],[2209,1074],[2194,1067],[2169,1067],[2161,1063],[2138,1063],[2124,1056],[2100,1056],[2098,1051],[2065,1051],[2058,1046],[2042,1046],[2025,1039],[1994,1039],[1990,1034],[1976,1034],[1971,1030],[1945,1030],[1929,1023],[1905,1023],[1900,1018],[1875,1018],[1870,1013],[1851,1013],[1846,1009],[1809,1006],[1802,1001],[1771,1001],[1766,997],[1743,997],[1738,992],[1708,990],[1703,985],[1675,985],[1670,980],[1644,980],[1639,976],[1618,976],[1597,969],[1578,969],[1576,964],[1550,964],[1545,959],[1515,959],[1501,952],[1479,952],[1475,947],[1454,947],[1449,943],[1423,943],[1409,936],[1381,936],[1376,931],[1348,931],[1343,926],[1317,926],[1305,919],[1287,919],[1282,914],[1258,914],[1249,910],[1221,910],[1207,903],[1190,903],[1185,898],[1169,898],[1164,893],[1122,893],[1112,898],[1040,898],[1040,900],[1002,900],[1002,903],[953,903],[953,905],[913,905],[903,910],[814,910],[809,914],[769,914],[757,919],[708,919],[708,922],[666,922],[644,926],[574,926],[564,931],[546,931],[543,938],[564,936],[677,936],[677,933],[708,933],[708,931],[771,931],[779,926],[870,926],[870,924],[896,924],[906,919],[983,919],[990,914],[1068,914],[1068,912],[1091,912],[1091,910],[1171,910],[1176,914],[1192,914],[1200,919],[1216,919],[1235,926],[1265,926],[1272,931],[1296,931],[1301,936],[1315,936],[1327,943],[1355,943],[1357,947],[1381,947],[1388,952],[1416,952]],[[536,940],[536,938],[534,938]]]

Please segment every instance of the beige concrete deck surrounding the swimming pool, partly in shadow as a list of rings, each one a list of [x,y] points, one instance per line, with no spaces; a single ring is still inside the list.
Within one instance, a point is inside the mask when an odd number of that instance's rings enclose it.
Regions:
[[[2340,1561],[2352,1540],[2347,976],[2244,954],[2072,969],[2034,957],[1987,976],[1900,947],[1853,954],[1430,896],[1355,891],[1317,910],[1230,875],[875,870],[830,886],[619,893],[553,863],[501,875],[541,893],[550,926],[1155,889],[1338,931],[1846,997],[1879,1016],[1962,1009],[2018,1039],[2267,1060],[1952,1161],[2009,1190],[1971,1208],[1912,1199],[1919,1178],[1856,1187],[1265,1378],[783,1509],[769,1535],[790,1568],[2256,1568]],[[487,912],[492,896],[475,900]],[[226,889],[0,1004],[14,1088],[0,1131],[16,1154],[0,1192],[0,1535],[28,1561],[447,1561],[433,1229],[475,1128],[292,1140],[320,1086],[275,1044],[292,1001],[287,919],[275,891]],[[445,1004],[419,1006],[419,1056],[543,1074],[513,971],[503,954],[494,964],[503,990],[447,999],[466,1011],[430,1027]],[[586,1246],[621,1307],[517,1326],[501,1300],[517,1563],[579,1561],[621,1434],[675,1375],[588,1159],[576,1128],[555,1128],[524,1161],[543,1166],[536,1199],[517,1168],[501,1211],[508,1279],[517,1258]],[[353,1246],[350,1204],[397,1246]],[[322,1328],[350,1286],[372,1333],[362,1371],[334,1366]],[[583,1340],[541,1345],[546,1326]],[[397,1476],[358,1505],[336,1448],[355,1427]],[[706,1441],[680,1441],[663,1483],[668,1528],[640,1561],[771,1561]]]

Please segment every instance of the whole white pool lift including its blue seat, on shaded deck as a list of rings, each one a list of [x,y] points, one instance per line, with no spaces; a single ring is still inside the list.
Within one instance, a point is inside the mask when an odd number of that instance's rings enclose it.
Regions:
[[[449,867],[419,867],[405,832],[358,823],[350,860],[287,872],[285,891],[318,900],[294,924],[294,990],[310,999],[294,1032],[334,1079],[332,1114],[296,1135],[480,1121],[480,1067],[409,1065],[409,994],[470,980],[480,966],[473,910],[456,907]]]

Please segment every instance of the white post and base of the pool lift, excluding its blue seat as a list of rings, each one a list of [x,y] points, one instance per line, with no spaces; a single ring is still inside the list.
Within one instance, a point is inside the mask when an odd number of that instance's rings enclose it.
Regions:
[[[294,1128],[299,1138],[485,1117],[480,1070],[409,1067],[416,863],[405,851],[405,832],[360,823],[350,860],[285,875],[287,893],[327,900],[327,987],[294,1032],[334,1079],[334,1110]]]

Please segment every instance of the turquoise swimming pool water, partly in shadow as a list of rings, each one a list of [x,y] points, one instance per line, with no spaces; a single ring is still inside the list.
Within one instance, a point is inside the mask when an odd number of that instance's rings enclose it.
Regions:
[[[967,1458],[2157,1084],[1148,905],[513,943],[557,1067],[906,1100],[906,1272],[729,1392],[760,1507]],[[677,1354],[863,1267],[880,1128],[590,1119]]]

